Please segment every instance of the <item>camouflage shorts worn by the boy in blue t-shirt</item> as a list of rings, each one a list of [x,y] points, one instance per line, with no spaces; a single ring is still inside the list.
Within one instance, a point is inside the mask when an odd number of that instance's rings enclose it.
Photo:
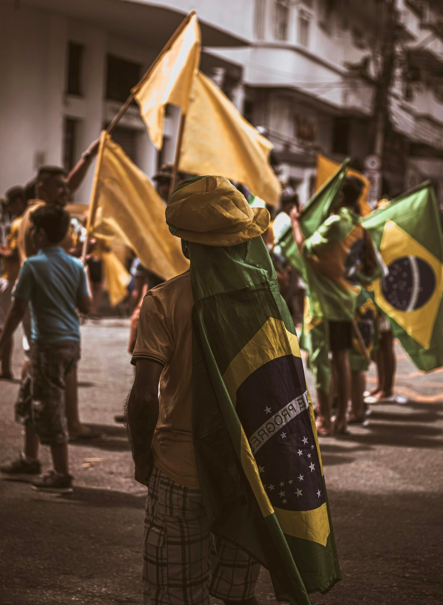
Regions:
[[[17,422],[33,426],[41,443],[68,443],[65,378],[79,358],[79,342],[33,344],[27,376],[15,404],[15,417]]]

